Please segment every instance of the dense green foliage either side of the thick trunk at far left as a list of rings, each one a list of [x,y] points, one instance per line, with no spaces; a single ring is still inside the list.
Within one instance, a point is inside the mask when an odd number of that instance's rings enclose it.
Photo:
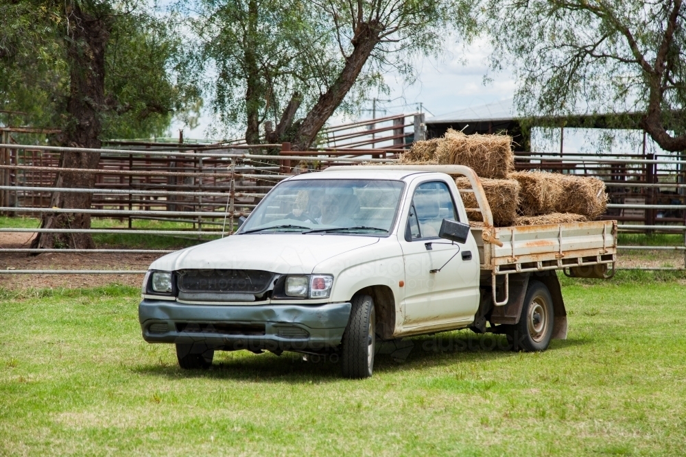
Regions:
[[[156,17],[142,0],[79,3],[108,25],[105,104],[98,107],[102,138],[161,135],[174,114],[199,110],[193,79],[179,77],[185,56],[173,23]],[[71,122],[70,25],[64,5],[39,0],[0,4],[0,109],[25,113],[0,117],[5,125],[64,129]]]

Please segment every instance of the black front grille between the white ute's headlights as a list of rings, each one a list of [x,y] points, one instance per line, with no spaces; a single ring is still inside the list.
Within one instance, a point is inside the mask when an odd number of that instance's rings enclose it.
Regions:
[[[182,292],[263,293],[274,273],[261,270],[180,270],[178,289]]]

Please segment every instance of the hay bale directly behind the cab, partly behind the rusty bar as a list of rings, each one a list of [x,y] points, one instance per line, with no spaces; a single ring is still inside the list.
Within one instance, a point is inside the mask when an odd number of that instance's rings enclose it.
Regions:
[[[455,180],[458,189],[471,189],[471,183],[466,177],[458,177]],[[493,225],[507,227],[517,219],[517,206],[519,205],[519,182],[514,180],[489,180],[481,178],[481,185],[486,193],[486,200],[493,213]],[[460,192],[464,208],[479,208],[473,193]],[[467,211],[470,221],[483,221],[482,214],[477,211]]]

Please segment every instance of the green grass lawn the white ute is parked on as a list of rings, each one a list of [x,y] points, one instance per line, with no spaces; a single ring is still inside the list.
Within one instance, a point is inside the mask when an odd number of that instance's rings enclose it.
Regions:
[[[351,381],[287,354],[180,371],[134,288],[0,291],[0,455],[683,455],[684,292],[565,279],[569,338],[544,353],[423,336]]]

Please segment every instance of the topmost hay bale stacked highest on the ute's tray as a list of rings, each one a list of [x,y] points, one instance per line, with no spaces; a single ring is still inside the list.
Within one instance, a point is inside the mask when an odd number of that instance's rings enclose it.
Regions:
[[[448,129],[440,140],[434,160],[438,164],[466,165],[480,177],[501,179],[514,171],[512,137],[508,135],[465,135]]]

